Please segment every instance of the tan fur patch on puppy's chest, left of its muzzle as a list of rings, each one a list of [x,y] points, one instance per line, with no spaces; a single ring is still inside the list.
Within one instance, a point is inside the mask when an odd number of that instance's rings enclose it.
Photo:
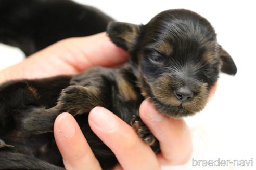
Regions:
[[[136,100],[136,93],[129,82],[119,75],[117,76],[116,81],[118,91],[125,98],[125,100]]]

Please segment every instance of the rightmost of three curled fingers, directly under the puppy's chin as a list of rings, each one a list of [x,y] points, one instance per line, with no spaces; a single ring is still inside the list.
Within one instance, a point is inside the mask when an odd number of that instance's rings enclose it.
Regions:
[[[180,165],[186,163],[192,152],[191,133],[183,119],[167,118],[145,100],[140,105],[140,118],[159,140],[161,164]]]

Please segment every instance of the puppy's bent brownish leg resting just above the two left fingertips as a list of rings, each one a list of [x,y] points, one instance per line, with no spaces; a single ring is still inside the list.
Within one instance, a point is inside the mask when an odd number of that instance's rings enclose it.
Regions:
[[[56,117],[62,112],[73,116],[87,114],[96,106],[107,107],[108,89],[97,86],[72,85],[61,92],[58,104],[50,109],[32,108],[21,118],[20,129],[32,134],[53,131]]]

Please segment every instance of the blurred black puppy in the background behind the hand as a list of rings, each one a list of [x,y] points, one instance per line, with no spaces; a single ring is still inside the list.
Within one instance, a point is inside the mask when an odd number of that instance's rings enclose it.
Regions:
[[[26,56],[61,39],[106,31],[113,19],[70,0],[1,0],[0,42]]]

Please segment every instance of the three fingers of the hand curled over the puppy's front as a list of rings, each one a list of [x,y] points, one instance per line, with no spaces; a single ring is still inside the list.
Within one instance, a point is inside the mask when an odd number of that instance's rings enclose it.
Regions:
[[[217,84],[211,88],[209,98],[215,93],[216,87]],[[186,163],[191,156],[192,142],[185,121],[164,117],[148,100],[140,105],[139,113],[159,140],[161,153],[158,155],[138,137],[130,125],[109,110],[95,107],[89,113],[91,129],[119,161],[113,169],[160,169],[160,165]],[[80,127],[70,114],[63,113],[56,118],[54,136],[67,169],[101,169]]]

